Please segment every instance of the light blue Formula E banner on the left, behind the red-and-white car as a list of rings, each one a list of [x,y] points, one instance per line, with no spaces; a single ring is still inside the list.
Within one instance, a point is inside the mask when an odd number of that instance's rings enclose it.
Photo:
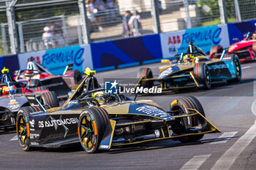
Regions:
[[[29,58],[36,58],[52,74],[63,74],[69,63],[74,63],[73,69],[83,72],[87,66],[92,69],[90,45],[62,47],[45,51],[23,53],[18,55],[20,69],[26,69]]]

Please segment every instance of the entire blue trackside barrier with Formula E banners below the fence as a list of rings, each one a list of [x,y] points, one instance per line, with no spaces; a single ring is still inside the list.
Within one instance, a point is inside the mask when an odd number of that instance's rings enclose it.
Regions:
[[[62,74],[68,63],[74,63],[74,69],[83,72],[87,66],[97,72],[156,63],[162,58],[173,59],[178,53],[184,53],[191,39],[204,52],[213,45],[229,47],[233,38],[243,39],[247,31],[255,31],[256,20],[241,23],[228,23],[217,26],[192,28],[162,34],[118,39],[107,42],[91,43],[42,50],[19,55],[0,57],[0,68],[9,67],[10,72],[26,69],[28,58],[34,57],[38,63],[53,74]]]

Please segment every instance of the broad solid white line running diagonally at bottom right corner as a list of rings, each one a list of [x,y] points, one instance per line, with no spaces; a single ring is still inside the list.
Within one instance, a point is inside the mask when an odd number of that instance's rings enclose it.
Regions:
[[[230,169],[236,158],[243,152],[243,150],[252,142],[256,136],[256,120],[255,124],[246,131],[244,136],[241,136],[240,139],[233,144],[214,164],[211,170],[219,169]]]

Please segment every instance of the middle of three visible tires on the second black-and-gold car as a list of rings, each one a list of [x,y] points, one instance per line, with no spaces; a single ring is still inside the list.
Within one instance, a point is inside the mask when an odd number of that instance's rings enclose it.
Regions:
[[[203,85],[203,89],[211,88],[211,74],[206,63],[196,63],[194,74],[196,80]]]

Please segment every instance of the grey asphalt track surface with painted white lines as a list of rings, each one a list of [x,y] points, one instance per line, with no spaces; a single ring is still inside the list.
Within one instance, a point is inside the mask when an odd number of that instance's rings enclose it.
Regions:
[[[140,67],[97,73],[104,78],[134,78]],[[0,169],[255,169],[256,167],[256,63],[244,63],[241,82],[220,82],[211,90],[139,96],[165,109],[180,96],[196,96],[211,123],[222,134],[206,134],[199,142],[181,144],[165,140],[87,154],[79,145],[24,152],[14,131],[0,132]]]

